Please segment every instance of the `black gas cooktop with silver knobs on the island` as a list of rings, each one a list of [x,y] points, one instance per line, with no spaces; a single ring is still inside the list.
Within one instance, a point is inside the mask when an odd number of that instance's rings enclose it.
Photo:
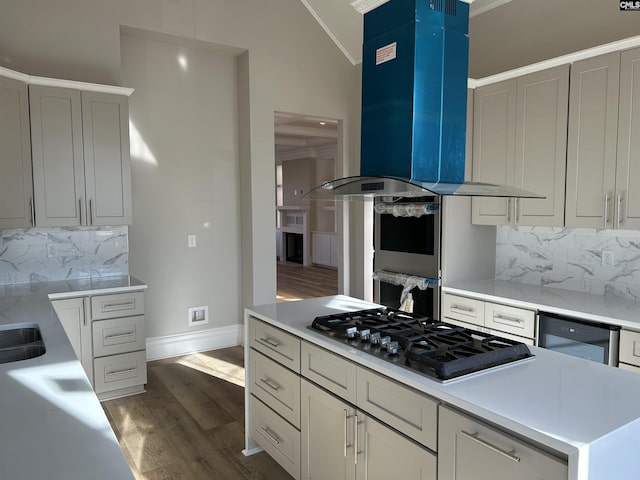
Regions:
[[[310,328],[441,382],[533,356],[524,343],[387,307],[316,317]]]

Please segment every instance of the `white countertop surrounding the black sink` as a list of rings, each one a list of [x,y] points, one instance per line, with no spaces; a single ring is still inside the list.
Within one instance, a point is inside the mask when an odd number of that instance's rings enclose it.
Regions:
[[[37,324],[46,353],[0,364],[0,478],[133,479],[49,296],[143,290],[133,277],[0,287],[0,329]]]

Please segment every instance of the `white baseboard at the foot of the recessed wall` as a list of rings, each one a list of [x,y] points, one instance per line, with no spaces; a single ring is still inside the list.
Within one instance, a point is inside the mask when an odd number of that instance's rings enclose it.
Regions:
[[[243,343],[243,325],[210,328],[165,337],[151,337],[147,338],[147,361],[233,347]]]

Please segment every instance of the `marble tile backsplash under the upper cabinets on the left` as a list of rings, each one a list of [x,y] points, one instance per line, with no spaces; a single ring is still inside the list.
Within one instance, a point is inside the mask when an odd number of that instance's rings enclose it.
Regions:
[[[122,227],[0,230],[0,285],[129,274]]]

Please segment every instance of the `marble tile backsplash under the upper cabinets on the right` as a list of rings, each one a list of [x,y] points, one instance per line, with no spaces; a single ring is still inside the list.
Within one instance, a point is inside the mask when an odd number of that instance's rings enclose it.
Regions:
[[[640,232],[498,227],[496,278],[640,300]]]

